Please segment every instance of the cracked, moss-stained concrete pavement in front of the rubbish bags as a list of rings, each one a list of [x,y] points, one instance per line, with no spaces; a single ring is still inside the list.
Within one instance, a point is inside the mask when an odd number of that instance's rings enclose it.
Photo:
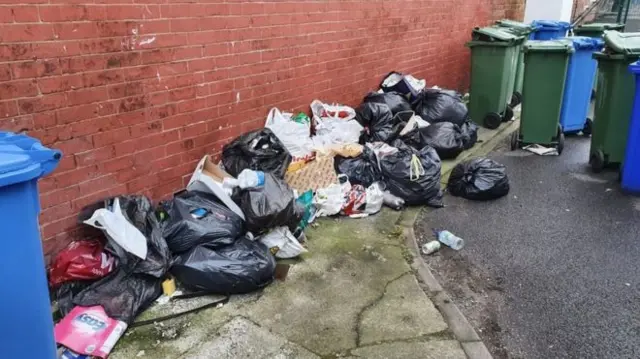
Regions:
[[[133,328],[110,358],[466,358],[408,263],[400,216],[321,220],[308,231],[309,255],[285,281]],[[207,300],[159,306],[140,319]]]

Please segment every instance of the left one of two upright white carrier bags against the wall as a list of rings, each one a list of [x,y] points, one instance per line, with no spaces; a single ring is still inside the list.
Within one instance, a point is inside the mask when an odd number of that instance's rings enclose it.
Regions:
[[[291,120],[293,114],[280,112],[272,108],[267,115],[264,127],[273,131],[293,156],[293,161],[313,157],[313,142],[311,141],[311,123],[298,123]]]

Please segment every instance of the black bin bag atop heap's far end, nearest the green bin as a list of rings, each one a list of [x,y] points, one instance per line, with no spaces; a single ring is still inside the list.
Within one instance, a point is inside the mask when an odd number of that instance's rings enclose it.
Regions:
[[[422,90],[412,106],[416,115],[431,124],[451,122],[462,126],[469,114],[460,94],[442,89]]]

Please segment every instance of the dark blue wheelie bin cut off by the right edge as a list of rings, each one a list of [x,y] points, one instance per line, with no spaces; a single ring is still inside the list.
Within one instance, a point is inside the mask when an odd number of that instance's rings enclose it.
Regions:
[[[640,61],[631,64],[629,70],[636,78],[636,91],[620,177],[623,190],[640,194]]]

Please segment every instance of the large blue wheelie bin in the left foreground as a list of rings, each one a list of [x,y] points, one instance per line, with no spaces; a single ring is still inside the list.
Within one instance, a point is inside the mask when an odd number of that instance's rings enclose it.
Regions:
[[[38,225],[38,179],[61,157],[34,138],[0,131],[2,358],[57,358]]]

